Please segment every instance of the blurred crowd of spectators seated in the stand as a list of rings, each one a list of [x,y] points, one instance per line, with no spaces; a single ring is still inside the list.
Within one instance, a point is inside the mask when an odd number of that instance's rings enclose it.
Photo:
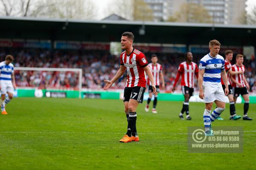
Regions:
[[[119,56],[111,55],[108,51],[67,51],[0,48],[0,59],[3,61],[7,54],[14,56],[15,67],[38,68],[81,68],[83,70],[82,87],[101,89],[105,79],[111,79],[120,67]],[[145,53],[150,62],[150,53]],[[166,91],[171,91],[177,68],[184,61],[183,54],[157,54],[159,63],[163,66]],[[195,55],[193,61],[199,63],[201,55]],[[235,58],[235,57],[233,57]],[[245,76],[250,84],[250,91],[256,92],[256,65],[253,60],[244,61]],[[70,71],[15,71],[18,87],[38,88],[73,88],[79,86],[79,73]],[[126,75],[122,76],[112,88],[122,89],[126,84]],[[176,88],[181,89],[181,87]],[[198,90],[195,79],[195,90]]]

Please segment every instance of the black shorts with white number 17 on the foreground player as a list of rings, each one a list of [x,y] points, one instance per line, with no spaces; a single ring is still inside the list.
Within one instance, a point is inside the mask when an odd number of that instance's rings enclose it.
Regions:
[[[146,88],[143,87],[125,87],[124,90],[124,102],[129,102],[130,99],[137,100],[139,103],[143,103],[143,96],[145,93]]]

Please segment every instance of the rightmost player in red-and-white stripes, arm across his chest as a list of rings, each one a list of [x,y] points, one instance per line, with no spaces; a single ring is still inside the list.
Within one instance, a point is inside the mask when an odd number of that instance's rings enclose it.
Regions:
[[[232,81],[232,87],[234,92],[234,102],[236,103],[237,97],[241,94],[241,96],[244,98],[244,116],[243,120],[252,120],[248,116],[248,110],[249,110],[249,93],[248,89],[249,84],[246,81],[246,78],[244,77],[244,70],[245,67],[243,65],[244,62],[244,56],[241,54],[236,55],[236,64],[232,65],[232,71],[243,71],[242,74],[236,74],[231,77]]]

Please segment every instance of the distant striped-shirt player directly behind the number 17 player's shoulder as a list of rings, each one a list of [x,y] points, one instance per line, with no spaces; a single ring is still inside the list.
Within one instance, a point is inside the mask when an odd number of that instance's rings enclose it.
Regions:
[[[151,56],[151,63],[148,64],[148,67],[150,68],[153,77],[154,77],[154,84],[156,85],[157,88],[157,92],[154,94],[154,102],[153,102],[153,108],[152,108],[152,113],[157,113],[156,107],[157,107],[157,93],[159,93],[159,86],[160,86],[160,80],[162,82],[162,88],[165,88],[165,83],[164,83],[164,79],[163,79],[163,67],[162,65],[160,65],[159,63],[157,63],[158,59],[157,59],[157,55],[156,54],[152,54]],[[148,84],[148,101],[147,101],[147,105],[145,107],[145,111],[148,112],[149,111],[149,103],[151,101],[152,98],[152,84],[149,81],[149,79],[147,79],[147,84]]]

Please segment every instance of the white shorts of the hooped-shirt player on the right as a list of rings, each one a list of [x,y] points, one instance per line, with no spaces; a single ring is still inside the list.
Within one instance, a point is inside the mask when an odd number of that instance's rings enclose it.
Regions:
[[[215,100],[226,102],[226,97],[223,91],[223,88],[220,87],[211,87],[204,86],[204,102],[211,103]]]

